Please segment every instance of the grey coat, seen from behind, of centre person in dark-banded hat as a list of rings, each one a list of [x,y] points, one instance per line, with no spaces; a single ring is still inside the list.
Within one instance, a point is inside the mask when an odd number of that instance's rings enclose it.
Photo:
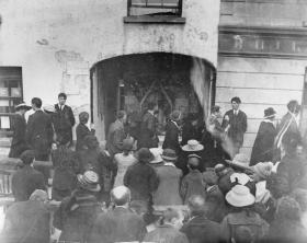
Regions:
[[[180,180],[182,172],[174,165],[156,167],[159,186],[154,194],[154,205],[182,205]]]

